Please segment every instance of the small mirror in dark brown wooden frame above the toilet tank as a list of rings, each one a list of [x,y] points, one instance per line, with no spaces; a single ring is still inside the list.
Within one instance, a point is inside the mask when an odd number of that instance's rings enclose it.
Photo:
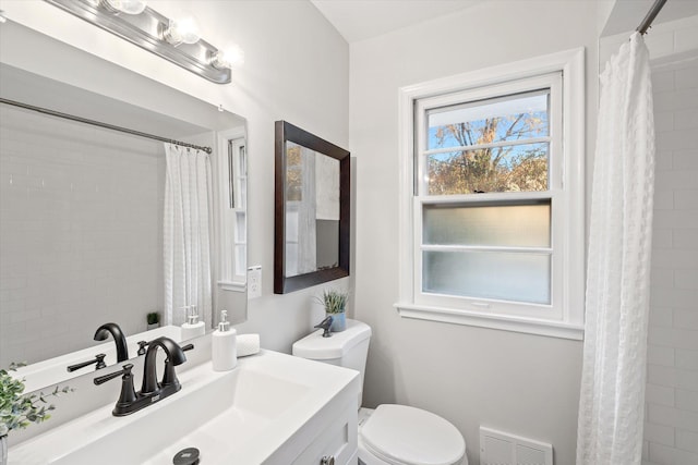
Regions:
[[[276,122],[274,293],[349,276],[350,156]]]

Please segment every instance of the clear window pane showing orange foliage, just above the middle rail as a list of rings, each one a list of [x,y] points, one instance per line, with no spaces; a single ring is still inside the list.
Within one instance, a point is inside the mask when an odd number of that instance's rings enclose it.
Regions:
[[[549,143],[430,155],[429,195],[547,191],[549,156]]]

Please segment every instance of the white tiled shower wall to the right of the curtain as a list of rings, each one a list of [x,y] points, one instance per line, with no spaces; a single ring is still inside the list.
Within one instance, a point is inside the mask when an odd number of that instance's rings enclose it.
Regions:
[[[698,464],[698,52],[652,73],[657,179],[643,465]]]

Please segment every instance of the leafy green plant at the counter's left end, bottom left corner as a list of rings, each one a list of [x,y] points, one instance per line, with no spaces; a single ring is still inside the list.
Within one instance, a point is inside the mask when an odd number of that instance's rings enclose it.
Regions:
[[[10,370],[25,364],[10,364]],[[13,378],[8,370],[0,369],[0,436],[7,435],[13,429],[24,429],[33,423],[39,424],[51,417],[49,412],[56,406],[49,404],[47,397],[57,397],[61,393],[72,392],[69,387],[53,388],[53,391],[45,394],[24,394],[24,380]]]

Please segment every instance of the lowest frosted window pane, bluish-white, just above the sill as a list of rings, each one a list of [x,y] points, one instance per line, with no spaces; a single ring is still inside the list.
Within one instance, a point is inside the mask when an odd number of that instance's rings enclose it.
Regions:
[[[551,258],[500,252],[422,253],[422,292],[551,303]]]

